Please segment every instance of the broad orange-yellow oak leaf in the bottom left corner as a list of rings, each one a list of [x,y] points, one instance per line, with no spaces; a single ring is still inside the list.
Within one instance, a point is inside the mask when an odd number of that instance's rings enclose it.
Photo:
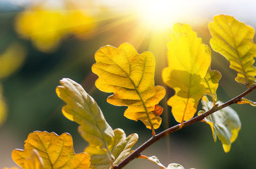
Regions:
[[[21,168],[26,168],[32,152],[38,151],[45,168],[89,168],[90,156],[86,153],[74,154],[73,140],[70,134],[58,136],[54,132],[35,131],[25,140],[24,150],[15,149],[11,156]]]

